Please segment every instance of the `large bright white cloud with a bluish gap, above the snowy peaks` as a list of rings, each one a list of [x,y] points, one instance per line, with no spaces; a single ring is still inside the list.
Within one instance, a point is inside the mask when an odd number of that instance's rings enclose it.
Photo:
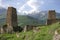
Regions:
[[[38,8],[44,4],[44,1],[41,0],[29,0],[27,1],[20,9],[18,10],[19,12],[24,12],[24,8],[26,5],[30,6],[32,9],[29,11],[25,11],[26,13],[32,13],[34,11],[38,11]]]

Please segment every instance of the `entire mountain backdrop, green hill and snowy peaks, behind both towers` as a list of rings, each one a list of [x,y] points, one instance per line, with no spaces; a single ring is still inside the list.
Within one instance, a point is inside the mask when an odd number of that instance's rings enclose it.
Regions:
[[[7,9],[0,7],[0,25],[6,23]],[[48,11],[33,12],[28,15],[18,15],[19,25],[39,25],[45,24]],[[56,18],[60,19],[60,13],[56,13]]]

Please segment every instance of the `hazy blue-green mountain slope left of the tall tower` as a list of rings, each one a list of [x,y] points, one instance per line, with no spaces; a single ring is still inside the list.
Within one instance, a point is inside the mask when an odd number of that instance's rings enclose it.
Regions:
[[[7,9],[0,7],[0,26],[5,24]]]

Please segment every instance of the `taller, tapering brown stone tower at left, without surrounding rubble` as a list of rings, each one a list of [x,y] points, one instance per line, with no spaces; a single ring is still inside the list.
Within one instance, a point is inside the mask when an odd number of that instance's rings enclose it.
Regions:
[[[13,7],[8,7],[7,10],[7,32],[12,32],[14,30],[14,27],[17,27],[17,12],[16,9]]]

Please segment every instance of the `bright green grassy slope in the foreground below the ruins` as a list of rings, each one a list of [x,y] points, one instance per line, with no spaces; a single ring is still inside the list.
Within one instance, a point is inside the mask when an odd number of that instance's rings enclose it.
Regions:
[[[24,36],[27,36],[27,40],[52,40],[54,31],[60,28],[58,23],[48,26],[39,26],[39,32],[33,33],[33,31],[21,32],[20,37],[17,38],[16,34],[0,34],[0,39],[6,40],[24,40]]]

